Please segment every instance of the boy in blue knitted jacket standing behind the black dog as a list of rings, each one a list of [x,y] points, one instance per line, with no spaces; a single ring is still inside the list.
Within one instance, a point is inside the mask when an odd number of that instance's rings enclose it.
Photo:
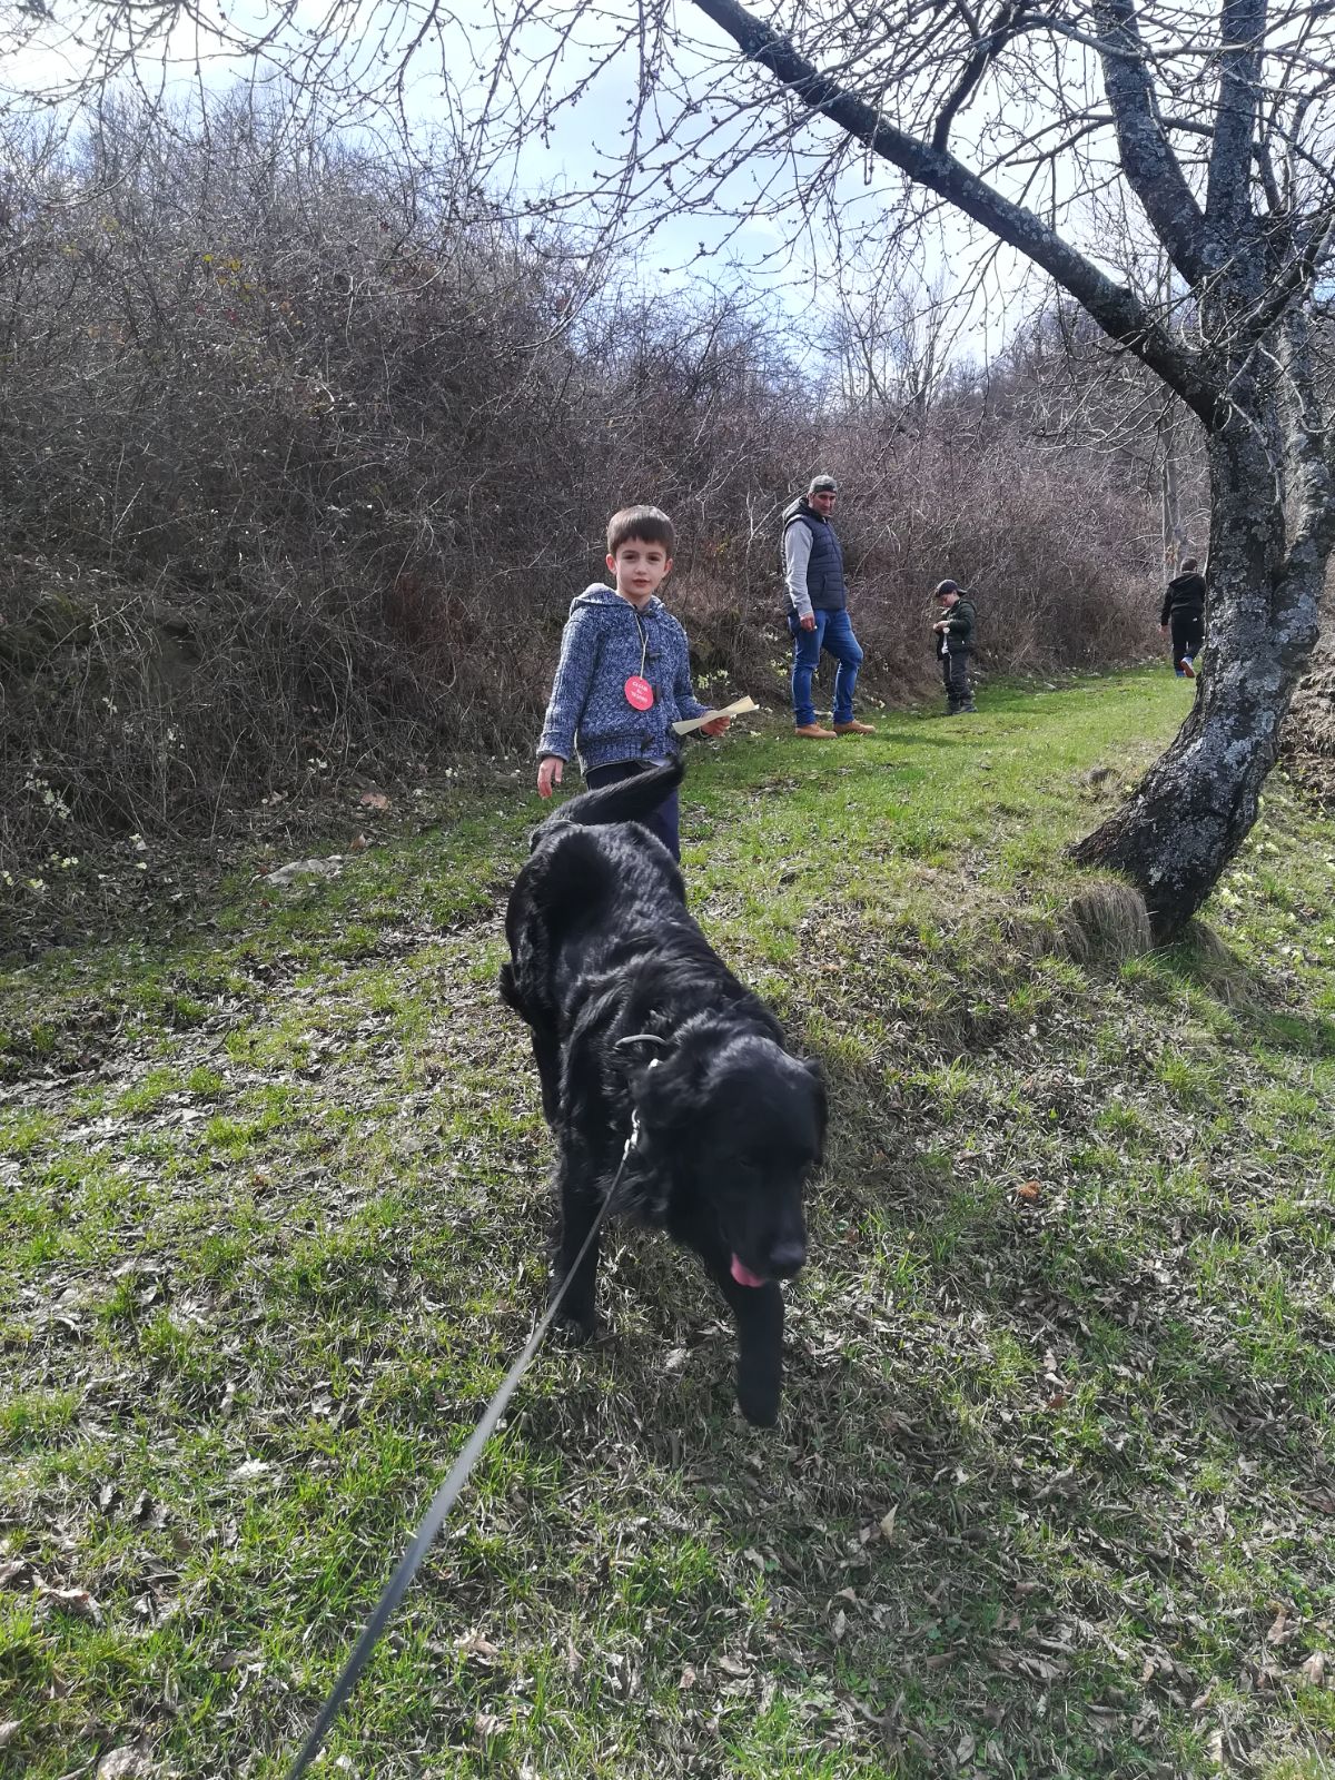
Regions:
[[[589,789],[614,785],[673,760],[673,723],[700,717],[685,630],[657,596],[673,566],[673,522],[659,507],[623,507],[607,522],[616,589],[595,582],[571,602],[552,698],[538,742],[538,796],[550,797],[575,746]],[[721,735],[716,717],[703,735]],[[676,790],[646,817],[675,860],[682,856]]]

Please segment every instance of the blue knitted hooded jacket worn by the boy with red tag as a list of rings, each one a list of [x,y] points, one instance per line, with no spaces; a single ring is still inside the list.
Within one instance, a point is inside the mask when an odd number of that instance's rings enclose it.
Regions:
[[[634,710],[625,694],[627,680],[641,673],[641,655],[653,687],[650,710]],[[539,756],[570,760],[578,746],[586,773],[618,760],[671,760],[680,748],[673,723],[705,710],[691,685],[685,630],[657,595],[639,614],[602,582],[571,600]]]

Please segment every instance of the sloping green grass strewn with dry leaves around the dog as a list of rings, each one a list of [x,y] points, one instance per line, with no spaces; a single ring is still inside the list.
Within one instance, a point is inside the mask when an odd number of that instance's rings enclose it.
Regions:
[[[1189,943],[1064,913],[1189,696],[694,749],[694,908],[831,1084],[780,1428],[616,1232],[319,1773],[1335,1773],[1335,831],[1276,776]],[[0,979],[5,1780],[281,1775],[522,1346],[520,790]]]

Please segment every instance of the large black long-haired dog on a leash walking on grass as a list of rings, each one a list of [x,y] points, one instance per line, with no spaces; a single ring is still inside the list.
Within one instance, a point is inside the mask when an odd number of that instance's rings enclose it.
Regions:
[[[737,1319],[737,1401],[769,1426],[776,1282],[806,1258],[803,1185],[821,1161],[826,1098],[817,1068],[789,1056],[774,1015],[710,949],[671,854],[635,821],[680,778],[680,764],[659,767],[543,822],[506,913],[500,995],[532,1027],[559,1145],[554,1283],[616,1184],[616,1210],[705,1262]],[[596,1273],[595,1242],[562,1307],[582,1339]]]

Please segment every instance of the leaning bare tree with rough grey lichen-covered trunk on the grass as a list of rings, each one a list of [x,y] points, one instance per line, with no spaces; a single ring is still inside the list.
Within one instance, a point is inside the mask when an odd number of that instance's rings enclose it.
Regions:
[[[842,68],[826,71],[742,0],[692,4],[746,59],[783,82],[805,121],[821,114],[867,155],[1041,267],[1205,427],[1212,514],[1196,703],[1130,803],[1075,847],[1075,858],[1125,874],[1143,892],[1157,936],[1169,938],[1205,901],[1255,821],[1280,724],[1315,643],[1317,595],[1335,543],[1335,452],[1310,352],[1314,292],[1335,253],[1335,185],[1324,174],[1326,137],[1310,137],[1321,141],[1319,155],[1308,146],[1312,96],[1301,93],[1289,125],[1278,126],[1273,75],[1266,73],[1299,14],[1280,7],[1282,16],[1271,18],[1274,0],[1218,0],[1210,25],[1218,98],[1209,117],[1182,119],[1164,116],[1168,87],[1155,48],[1166,30],[1177,32],[1177,12],[1169,27],[1145,0],[1091,0],[1077,9],[1091,27],[1082,41],[1098,55],[1107,105],[1107,112],[1093,110],[1093,98],[1082,98],[1080,134],[1111,117],[1121,180],[1191,301],[1182,319],[1171,301],[1145,301],[1066,240],[1056,212],[1048,221],[1015,201],[951,150],[959,110],[1009,44],[1027,39],[1025,7],[1002,5],[986,32],[968,7],[906,9],[906,37],[920,16],[956,12],[972,34],[958,78],[936,94],[927,117],[913,100],[902,109],[895,101],[897,73],[911,69],[902,85],[910,94],[918,89],[917,37],[902,69],[892,59],[879,84],[853,85],[846,80],[858,78],[860,52],[851,44],[842,46]],[[856,37],[854,14],[847,18]],[[792,16],[806,21],[803,9]],[[885,30],[878,9],[867,14],[872,28]],[[892,30],[878,41],[897,36]],[[1175,146],[1178,134],[1196,130],[1209,139],[1203,190]],[[1314,169],[1321,174],[1315,196],[1299,203]]]

